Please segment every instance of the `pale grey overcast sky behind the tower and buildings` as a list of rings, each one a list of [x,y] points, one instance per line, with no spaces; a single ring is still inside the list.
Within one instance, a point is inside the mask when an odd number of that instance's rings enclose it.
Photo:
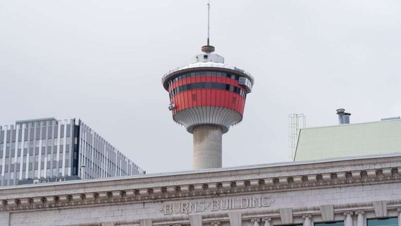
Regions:
[[[307,126],[401,115],[401,1],[211,1],[210,41],[255,78],[223,166],[288,161]],[[192,169],[161,76],[206,44],[206,0],[0,1],[0,124],[81,118],[147,172]]]

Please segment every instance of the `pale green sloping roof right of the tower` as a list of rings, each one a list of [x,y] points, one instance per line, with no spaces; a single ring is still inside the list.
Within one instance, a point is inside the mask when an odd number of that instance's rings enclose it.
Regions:
[[[401,153],[401,119],[300,129],[295,161]]]

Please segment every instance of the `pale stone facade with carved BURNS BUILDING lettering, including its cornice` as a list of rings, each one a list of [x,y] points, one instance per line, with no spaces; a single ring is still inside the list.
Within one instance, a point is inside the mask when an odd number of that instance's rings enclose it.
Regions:
[[[364,226],[400,218],[401,154],[2,187],[0,200],[0,226]]]

